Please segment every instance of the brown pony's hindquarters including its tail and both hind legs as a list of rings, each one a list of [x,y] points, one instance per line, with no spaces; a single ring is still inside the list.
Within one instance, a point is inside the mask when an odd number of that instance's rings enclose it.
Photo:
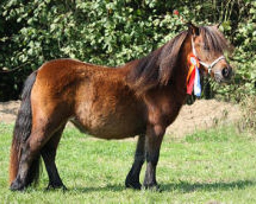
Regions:
[[[22,190],[37,181],[41,155],[51,186],[63,185],[57,175],[55,153],[72,112],[76,78],[71,64],[58,62],[45,63],[26,81],[11,147],[11,190]]]

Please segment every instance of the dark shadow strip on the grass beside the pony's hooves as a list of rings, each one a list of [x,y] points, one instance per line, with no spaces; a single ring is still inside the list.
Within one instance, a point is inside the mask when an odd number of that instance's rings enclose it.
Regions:
[[[215,183],[189,183],[187,181],[180,181],[179,183],[160,184],[160,191],[180,191],[183,193],[189,193],[195,190],[214,191],[214,190],[232,190],[232,189],[244,189],[248,186],[256,185],[256,181],[238,180],[233,182],[215,182]],[[122,184],[107,185],[105,187],[75,187],[69,188],[68,191],[78,191],[81,193],[89,193],[96,191],[113,191],[119,192],[125,190],[125,186]]]

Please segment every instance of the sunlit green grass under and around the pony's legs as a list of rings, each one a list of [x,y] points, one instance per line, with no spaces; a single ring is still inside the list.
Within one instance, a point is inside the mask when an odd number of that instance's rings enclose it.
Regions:
[[[136,142],[93,139],[67,129],[57,166],[68,191],[38,187],[11,192],[8,185],[12,125],[0,124],[0,203],[256,203],[256,140],[233,127],[165,136],[157,179],[162,192],[125,189]],[[145,167],[143,167],[141,181]]]

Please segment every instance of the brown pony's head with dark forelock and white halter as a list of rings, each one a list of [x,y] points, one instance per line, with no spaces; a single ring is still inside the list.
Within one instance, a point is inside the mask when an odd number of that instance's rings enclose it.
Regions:
[[[197,27],[188,23],[191,34],[192,53],[198,58],[200,68],[210,74],[217,82],[226,82],[231,78],[232,68],[224,57],[224,51],[230,51],[219,25]]]

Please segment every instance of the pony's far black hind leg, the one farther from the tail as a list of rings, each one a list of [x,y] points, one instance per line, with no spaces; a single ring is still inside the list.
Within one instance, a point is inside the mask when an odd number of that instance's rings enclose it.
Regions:
[[[58,174],[58,170],[55,164],[55,157],[56,157],[56,151],[58,147],[58,143],[61,139],[62,132],[64,130],[65,125],[60,127],[59,130],[57,130],[52,137],[49,139],[49,141],[44,145],[44,147],[41,149],[41,155],[44,159],[44,164],[49,176],[49,184],[47,186],[47,190],[53,188],[63,188],[66,190],[67,188],[62,183],[61,178]]]

